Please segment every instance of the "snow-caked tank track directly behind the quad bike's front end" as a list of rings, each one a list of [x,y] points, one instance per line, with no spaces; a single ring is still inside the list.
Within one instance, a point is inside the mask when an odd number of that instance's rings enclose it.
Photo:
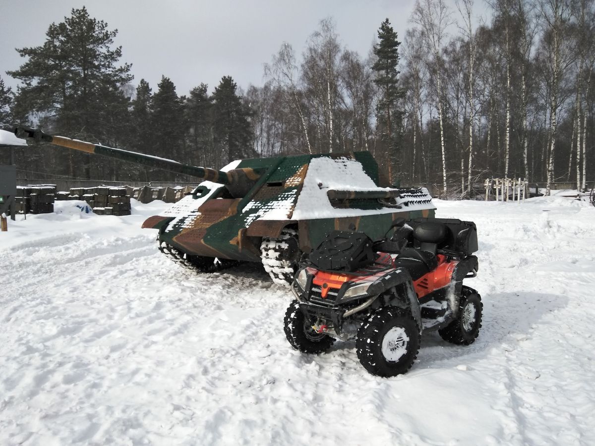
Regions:
[[[301,255],[297,231],[293,229],[284,228],[278,238],[262,238],[262,265],[277,284],[292,284]]]

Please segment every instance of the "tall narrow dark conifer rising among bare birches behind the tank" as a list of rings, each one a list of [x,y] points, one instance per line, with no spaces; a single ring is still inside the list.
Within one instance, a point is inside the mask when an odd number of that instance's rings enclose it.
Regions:
[[[372,65],[375,71],[374,83],[380,92],[376,109],[377,126],[382,135],[386,152],[389,180],[393,180],[393,164],[399,164],[399,140],[403,112],[397,109],[397,102],[404,97],[399,88],[399,45],[397,33],[390,26],[387,18],[378,29],[378,43],[374,45],[376,61]]]

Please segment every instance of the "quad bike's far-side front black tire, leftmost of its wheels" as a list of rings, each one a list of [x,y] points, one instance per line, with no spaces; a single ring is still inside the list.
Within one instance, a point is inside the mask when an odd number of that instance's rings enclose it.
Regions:
[[[287,341],[292,347],[302,353],[322,353],[328,350],[334,343],[334,338],[324,333],[317,333],[309,324],[308,319],[299,309],[299,302],[293,300],[287,308],[285,318],[283,319],[283,329]]]

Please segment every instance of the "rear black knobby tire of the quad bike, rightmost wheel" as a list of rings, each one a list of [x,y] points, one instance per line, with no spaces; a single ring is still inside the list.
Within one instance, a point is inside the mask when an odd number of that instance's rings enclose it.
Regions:
[[[459,314],[438,333],[443,340],[452,344],[468,346],[480,334],[483,303],[480,294],[473,288],[463,286],[459,300]]]

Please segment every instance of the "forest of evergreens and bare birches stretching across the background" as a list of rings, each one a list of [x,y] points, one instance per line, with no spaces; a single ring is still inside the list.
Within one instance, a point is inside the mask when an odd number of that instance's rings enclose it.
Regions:
[[[595,178],[593,0],[491,0],[485,11],[418,0],[409,28],[383,21],[367,55],[342,45],[326,18],[302,52],[281,43],[263,86],[225,76],[179,95],[165,76],[134,86],[117,31],[74,9],[42,45],[17,50],[26,61],[7,74],[21,84],[12,91],[0,77],[0,126],[215,168],[369,150],[393,183],[439,184],[450,197],[505,176],[584,189]],[[43,146],[18,149],[17,164],[19,176],[48,180],[184,180]]]

